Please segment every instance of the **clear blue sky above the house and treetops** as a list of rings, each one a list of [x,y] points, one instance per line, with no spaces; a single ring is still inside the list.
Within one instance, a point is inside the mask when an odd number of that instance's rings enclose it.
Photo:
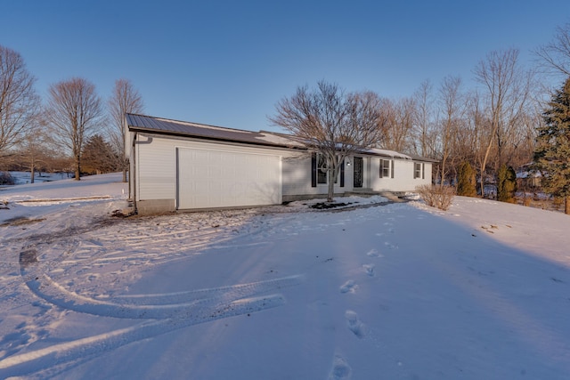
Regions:
[[[324,79],[397,99],[429,79],[472,85],[494,50],[530,53],[570,22],[568,0],[0,0],[0,44],[48,85],[125,77],[145,113],[277,130],[275,103]]]

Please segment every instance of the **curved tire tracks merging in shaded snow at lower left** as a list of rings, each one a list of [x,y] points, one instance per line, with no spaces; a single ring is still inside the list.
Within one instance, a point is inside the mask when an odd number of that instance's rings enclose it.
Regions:
[[[102,301],[77,295],[61,287],[45,273],[35,250],[20,253],[20,276],[32,293],[62,309],[102,317],[150,319],[98,336],[54,344],[0,360],[0,377],[21,376],[47,368],[70,368],[77,360],[93,357],[142,339],[173,330],[207,323],[216,319],[264,311],[285,303],[283,295],[270,293],[283,287],[298,285],[302,276],[257,281],[228,287],[214,287],[158,295],[124,295],[114,301]],[[61,369],[65,370],[65,369]]]

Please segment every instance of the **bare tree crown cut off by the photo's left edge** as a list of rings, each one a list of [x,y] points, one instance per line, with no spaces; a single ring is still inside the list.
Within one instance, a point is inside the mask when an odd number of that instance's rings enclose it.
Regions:
[[[23,138],[37,114],[35,81],[20,53],[0,45],[0,157]]]

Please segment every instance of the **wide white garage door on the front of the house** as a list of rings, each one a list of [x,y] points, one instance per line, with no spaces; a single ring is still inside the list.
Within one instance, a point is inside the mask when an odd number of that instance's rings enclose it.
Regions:
[[[281,158],[178,149],[178,208],[281,203]]]

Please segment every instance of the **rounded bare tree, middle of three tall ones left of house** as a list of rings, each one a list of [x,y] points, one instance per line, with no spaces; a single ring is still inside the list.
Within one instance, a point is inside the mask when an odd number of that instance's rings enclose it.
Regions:
[[[85,139],[103,117],[102,102],[95,86],[74,77],[51,85],[45,120],[53,128],[54,138],[71,153],[75,179],[81,175],[81,153]]]

